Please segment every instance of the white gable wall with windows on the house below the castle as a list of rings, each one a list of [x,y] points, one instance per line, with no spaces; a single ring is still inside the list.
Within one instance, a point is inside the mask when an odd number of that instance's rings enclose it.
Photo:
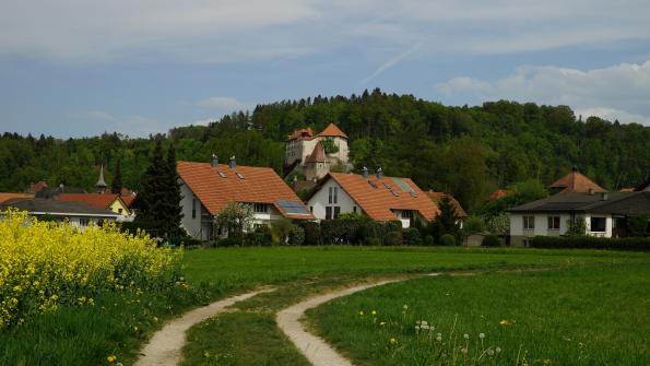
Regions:
[[[328,179],[322,188],[309,199],[307,205],[318,220],[335,219],[335,216],[342,213],[362,213],[356,202],[334,179]]]

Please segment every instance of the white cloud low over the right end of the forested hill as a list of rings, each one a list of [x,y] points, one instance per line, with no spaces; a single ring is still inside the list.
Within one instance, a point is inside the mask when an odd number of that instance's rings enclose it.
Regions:
[[[621,122],[650,126],[650,60],[602,69],[520,67],[496,81],[460,76],[436,85],[458,99],[511,99],[568,105],[578,110]]]

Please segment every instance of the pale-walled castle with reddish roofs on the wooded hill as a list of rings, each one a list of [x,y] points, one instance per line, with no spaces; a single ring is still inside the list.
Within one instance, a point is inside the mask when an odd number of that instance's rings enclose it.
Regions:
[[[348,170],[348,153],[347,135],[334,123],[316,134],[310,128],[299,129],[287,138],[284,165],[287,172],[297,172],[312,181],[334,166]]]

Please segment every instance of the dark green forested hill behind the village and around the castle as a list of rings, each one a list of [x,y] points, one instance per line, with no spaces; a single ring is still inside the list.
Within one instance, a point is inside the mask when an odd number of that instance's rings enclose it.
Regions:
[[[634,187],[650,173],[650,127],[575,116],[566,106],[485,103],[449,107],[376,90],[361,96],[315,97],[256,107],[210,126],[170,131],[180,160],[212,153],[238,164],[282,172],[284,141],[296,128],[335,122],[351,141],[355,167],[383,167],[423,189],[450,191],[476,208],[497,187],[537,179],[547,185],[577,166],[608,189]],[[119,158],[125,185],[138,188],[150,140],[104,134],[93,139],[0,139],[0,190],[24,190],[46,179],[92,187],[101,162],[107,180]]]

